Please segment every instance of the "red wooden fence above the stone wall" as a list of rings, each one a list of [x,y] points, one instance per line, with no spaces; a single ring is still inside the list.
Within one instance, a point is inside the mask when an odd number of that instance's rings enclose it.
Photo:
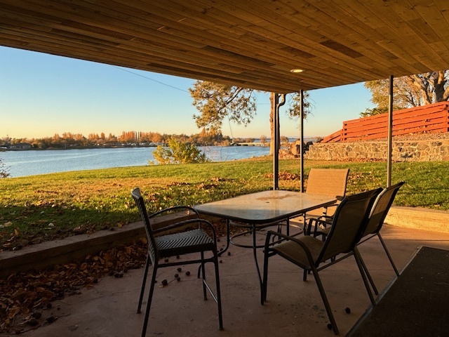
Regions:
[[[448,131],[449,102],[434,103],[393,112],[393,136]],[[387,133],[388,114],[377,114],[371,117],[344,121],[342,130],[323,138],[321,143],[387,138]]]

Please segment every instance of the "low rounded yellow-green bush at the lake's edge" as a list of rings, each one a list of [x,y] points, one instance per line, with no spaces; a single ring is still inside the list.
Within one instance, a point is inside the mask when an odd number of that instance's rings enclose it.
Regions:
[[[161,165],[204,163],[208,161],[206,154],[198,147],[189,143],[182,143],[175,138],[168,140],[168,146],[158,145],[153,151],[153,156]],[[152,164],[152,163],[150,163]]]

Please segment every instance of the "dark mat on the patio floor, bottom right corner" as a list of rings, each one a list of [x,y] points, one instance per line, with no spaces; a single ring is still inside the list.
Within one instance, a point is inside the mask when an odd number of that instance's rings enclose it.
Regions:
[[[449,251],[423,246],[347,336],[449,336]]]

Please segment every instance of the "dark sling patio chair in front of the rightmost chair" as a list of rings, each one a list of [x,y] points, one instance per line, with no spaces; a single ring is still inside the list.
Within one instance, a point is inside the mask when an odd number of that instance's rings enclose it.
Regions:
[[[342,260],[342,258],[336,258],[340,253],[345,254],[344,258],[347,257],[348,253],[352,253],[356,260],[358,270],[361,273],[363,284],[366,287],[371,303],[375,305],[373,293],[370,291],[368,280],[363,272],[363,261],[361,260],[361,256],[358,252],[354,251],[354,247],[359,242],[361,235],[368,224],[370,210],[373,206],[375,198],[381,190],[382,189],[377,189],[361,194],[355,194],[350,197],[345,197],[337,206],[335,216],[333,217],[332,227],[330,227],[330,232],[326,242],[309,235],[304,235],[303,237],[297,239],[294,237],[288,237],[287,235],[278,232],[269,231],[267,233],[264,248],[264,275],[261,303],[264,304],[264,300],[267,300],[269,258],[279,255],[304,270],[303,281],[307,280],[307,272],[309,270],[311,270],[314,274],[316,285],[318,286],[323,304],[326,307],[326,312],[330,319],[329,328],[333,329],[334,333],[337,335],[339,331],[337,329],[337,324],[335,323],[328,298],[323,289],[323,285],[321,284],[319,272]],[[272,246],[270,245],[272,235],[281,237],[285,241]],[[327,260],[330,260],[330,262],[326,263]]]

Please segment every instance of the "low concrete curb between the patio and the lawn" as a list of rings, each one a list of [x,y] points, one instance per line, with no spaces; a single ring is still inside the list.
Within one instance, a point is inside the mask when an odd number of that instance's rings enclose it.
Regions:
[[[186,220],[187,217],[177,215],[165,218],[160,225]],[[449,233],[449,212],[394,206],[391,207],[385,223],[396,227]],[[4,251],[0,253],[0,277],[8,277],[13,272],[42,270],[50,265],[81,260],[91,253],[129,244],[142,237],[145,237],[145,228],[140,221],[114,228],[113,231],[101,230],[93,234],[81,234],[27,246],[20,251]]]

